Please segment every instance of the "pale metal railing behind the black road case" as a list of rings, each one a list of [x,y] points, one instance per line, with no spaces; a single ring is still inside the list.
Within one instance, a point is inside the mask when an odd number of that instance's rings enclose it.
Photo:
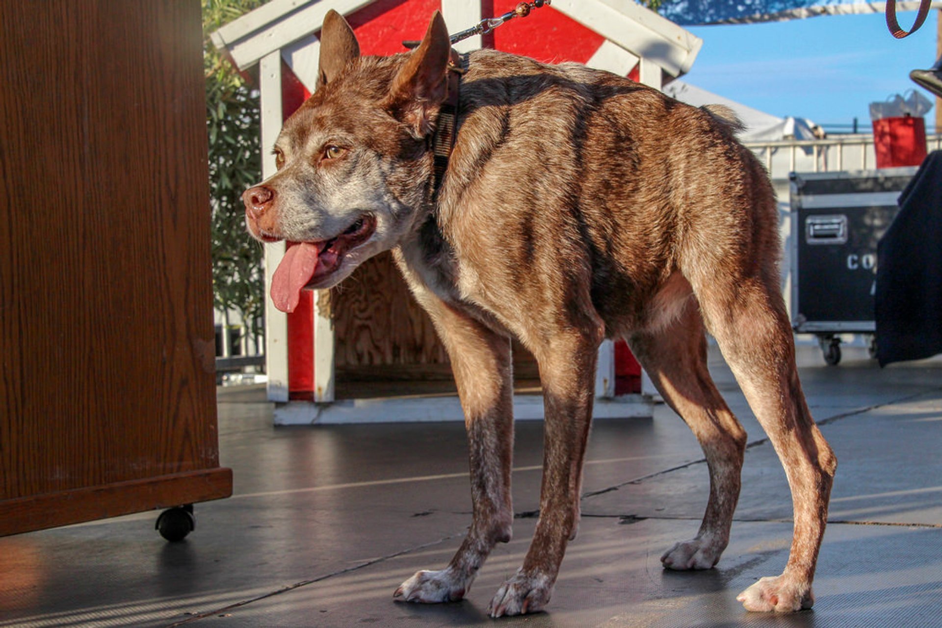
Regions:
[[[870,134],[825,137],[824,139],[780,139],[743,142],[762,160],[772,179],[787,179],[789,172],[828,172],[876,168],[873,136]],[[942,135],[926,137],[929,151],[942,148]]]

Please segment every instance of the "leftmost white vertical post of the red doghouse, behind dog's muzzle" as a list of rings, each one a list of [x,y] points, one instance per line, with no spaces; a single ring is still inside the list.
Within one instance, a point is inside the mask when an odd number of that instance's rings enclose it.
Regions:
[[[259,65],[262,121],[262,178],[275,173],[271,147],[282,130],[282,59],[273,52]],[[268,298],[271,275],[284,256],[284,242],[265,245],[265,361],[268,373],[268,399],[288,400],[288,319]]]

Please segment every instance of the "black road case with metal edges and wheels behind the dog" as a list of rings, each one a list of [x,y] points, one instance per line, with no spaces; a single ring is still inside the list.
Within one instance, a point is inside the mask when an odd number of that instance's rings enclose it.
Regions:
[[[792,327],[818,336],[825,362],[840,362],[840,333],[863,333],[875,354],[877,242],[916,168],[793,172]]]

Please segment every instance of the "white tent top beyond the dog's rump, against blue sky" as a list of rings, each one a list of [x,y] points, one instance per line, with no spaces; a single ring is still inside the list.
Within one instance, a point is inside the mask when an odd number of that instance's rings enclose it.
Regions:
[[[674,80],[667,84],[664,93],[681,103],[688,105],[726,105],[736,112],[746,129],[739,134],[742,141],[763,141],[774,139],[815,139],[815,123],[806,118],[779,118],[751,106],[742,105],[728,98],[723,98],[706,89]]]

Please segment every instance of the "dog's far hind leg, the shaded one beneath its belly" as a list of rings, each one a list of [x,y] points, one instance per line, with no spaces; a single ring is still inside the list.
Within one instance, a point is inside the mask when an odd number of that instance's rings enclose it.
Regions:
[[[672,570],[710,569],[729,543],[746,432],[709,376],[703,320],[690,298],[690,285],[679,281],[686,290],[674,298],[681,302],[665,308],[680,308],[679,315],[665,324],[656,321],[627,340],[660,395],[693,431],[709,469],[709,501],[700,530],[693,539],[675,543],[661,563]]]

